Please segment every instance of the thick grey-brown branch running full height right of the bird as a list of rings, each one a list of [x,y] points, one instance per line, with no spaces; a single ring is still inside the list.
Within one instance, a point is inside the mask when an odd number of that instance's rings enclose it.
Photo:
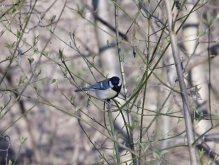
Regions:
[[[166,14],[168,19],[168,25],[169,25],[169,33],[170,33],[170,42],[173,52],[173,58],[176,66],[178,81],[180,85],[180,91],[181,91],[181,97],[183,101],[183,110],[184,110],[184,117],[185,117],[185,125],[186,125],[186,135],[188,140],[188,149],[189,149],[189,155],[190,155],[190,162],[192,165],[197,165],[198,161],[195,154],[195,146],[194,143],[194,133],[193,133],[193,126],[192,126],[192,120],[190,115],[190,107],[188,102],[188,94],[186,91],[186,85],[183,79],[183,73],[182,68],[180,65],[180,58],[178,55],[178,47],[177,47],[177,38],[176,38],[176,32],[173,29],[173,19],[172,19],[172,13],[171,13],[171,6],[169,0],[164,0],[165,8],[166,8]]]

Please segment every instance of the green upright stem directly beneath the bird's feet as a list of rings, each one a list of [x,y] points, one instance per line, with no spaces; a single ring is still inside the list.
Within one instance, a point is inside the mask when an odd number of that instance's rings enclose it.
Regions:
[[[110,128],[111,128],[111,132],[112,132],[112,139],[113,139],[114,148],[116,151],[116,160],[117,160],[117,164],[120,164],[119,147],[118,147],[117,136],[116,136],[115,129],[114,129],[113,116],[112,116],[112,112],[111,112],[111,108],[110,108],[111,107],[110,100],[107,100],[106,104],[107,104],[107,110],[108,110],[108,115],[109,115]]]

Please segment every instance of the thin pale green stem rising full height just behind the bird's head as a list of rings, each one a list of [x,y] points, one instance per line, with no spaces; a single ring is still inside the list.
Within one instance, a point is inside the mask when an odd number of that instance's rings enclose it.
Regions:
[[[119,56],[119,65],[120,65],[120,71],[121,71],[121,76],[122,76],[122,82],[123,82],[123,92],[125,94],[125,100],[127,101],[126,98],[126,94],[127,94],[127,88],[126,88],[126,81],[125,81],[125,73],[124,73],[124,67],[123,67],[123,63],[122,63],[122,56],[121,56],[121,49],[120,49],[120,44],[119,44],[119,24],[118,24],[118,7],[117,4],[115,3],[115,29],[116,29],[116,45],[117,45],[117,50],[118,50],[118,56]],[[128,117],[128,124],[130,126],[132,126],[132,117],[131,117],[131,113],[129,111],[129,104],[126,105],[126,109],[127,109],[127,117]],[[127,132],[128,133],[128,132]],[[135,149],[135,145],[134,145],[134,140],[133,140],[133,131],[131,129],[129,129],[129,143],[131,146],[132,151],[136,151]],[[136,158],[136,155],[134,155],[132,153],[132,158],[134,161],[134,164],[138,164],[138,159]]]

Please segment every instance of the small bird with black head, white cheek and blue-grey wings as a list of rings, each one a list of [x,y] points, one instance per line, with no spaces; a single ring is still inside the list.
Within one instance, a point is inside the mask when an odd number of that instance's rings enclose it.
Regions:
[[[96,96],[101,100],[110,100],[119,95],[121,88],[122,81],[119,77],[113,76],[88,87],[76,89],[75,92],[94,91]]]

